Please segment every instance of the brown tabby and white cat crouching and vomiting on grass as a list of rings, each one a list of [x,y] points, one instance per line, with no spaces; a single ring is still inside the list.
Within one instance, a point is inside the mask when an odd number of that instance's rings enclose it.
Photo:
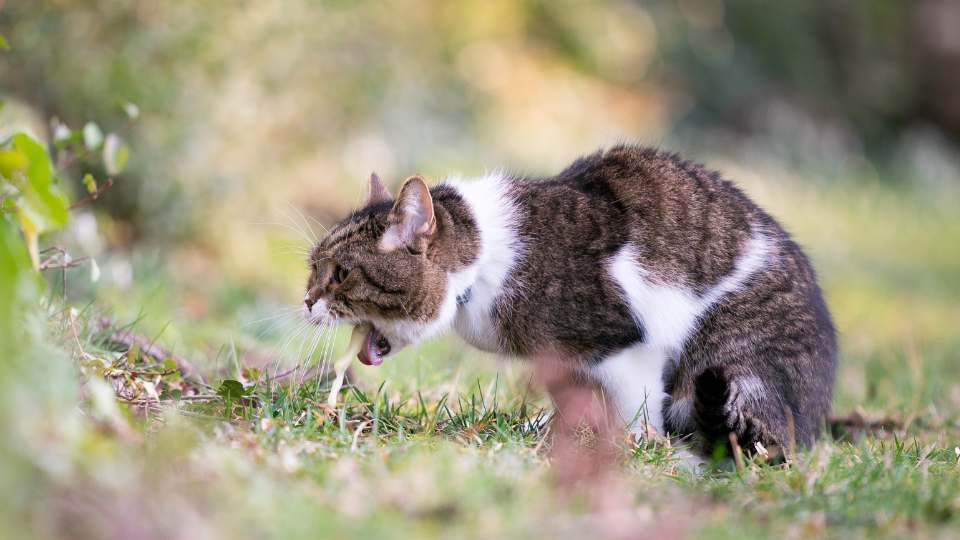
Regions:
[[[372,325],[365,364],[450,327],[484,351],[558,352],[627,429],[703,456],[731,433],[749,451],[809,446],[830,411],[836,337],[809,260],[676,154],[620,145],[554,177],[432,189],[414,176],[395,199],[374,174],[310,270],[307,316]]]

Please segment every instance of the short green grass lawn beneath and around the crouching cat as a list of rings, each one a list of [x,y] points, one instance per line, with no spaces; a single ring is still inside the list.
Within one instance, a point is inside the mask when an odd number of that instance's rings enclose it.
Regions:
[[[10,428],[29,452],[0,456],[4,470],[17,472],[0,512],[6,530],[23,537],[955,537],[956,195],[731,175],[815,259],[841,331],[835,412],[886,420],[889,429],[828,435],[786,466],[748,459],[707,473],[684,468],[665,441],[623,443],[615,481],[601,491],[625,504],[598,510],[589,483],[558,483],[546,440],[550,404],[523,364],[442,339],[381,368],[358,367],[356,385],[331,409],[320,379],[298,371],[267,380],[279,349],[291,358],[280,371],[293,359],[322,356],[307,353],[311,339],[284,347],[295,326],[258,321],[277,312],[278,294],[229,278],[185,281],[162,256],[141,253],[133,288],[104,286],[73,317],[50,304],[48,335],[56,339],[47,346],[69,354],[40,355],[44,377],[25,374],[33,378],[21,387],[36,381],[34,393],[46,396],[24,402],[60,405],[23,411]],[[278,272],[299,280],[302,270],[285,264]],[[71,272],[68,282],[81,281],[80,270]],[[199,301],[202,314],[191,315]],[[206,381],[111,343],[94,324],[105,314],[190,359]],[[342,349],[340,334],[328,351]],[[243,395],[225,391],[224,380],[241,382]],[[147,386],[170,401],[144,413],[113,397],[117,388],[142,397]],[[210,399],[182,399],[191,394]]]

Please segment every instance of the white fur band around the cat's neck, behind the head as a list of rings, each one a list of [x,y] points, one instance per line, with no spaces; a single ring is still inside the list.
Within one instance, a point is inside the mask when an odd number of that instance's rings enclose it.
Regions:
[[[477,260],[448,275],[448,295],[456,298],[470,289],[470,301],[456,310],[454,329],[474,347],[499,352],[501,340],[491,310],[497,298],[510,289],[510,274],[523,252],[509,180],[502,174],[490,174],[473,181],[448,179],[446,184],[463,197],[480,232]]]

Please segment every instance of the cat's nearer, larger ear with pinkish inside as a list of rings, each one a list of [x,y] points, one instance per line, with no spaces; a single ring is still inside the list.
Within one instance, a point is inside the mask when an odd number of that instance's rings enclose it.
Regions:
[[[397,201],[390,210],[389,226],[380,238],[381,251],[400,247],[422,253],[437,230],[433,198],[423,178],[412,176],[403,183]]]

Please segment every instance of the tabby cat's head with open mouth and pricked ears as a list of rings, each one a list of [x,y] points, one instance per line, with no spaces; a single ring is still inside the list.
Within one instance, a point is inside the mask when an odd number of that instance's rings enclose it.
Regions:
[[[311,251],[307,318],[370,324],[359,356],[372,365],[449,324],[456,301],[438,261],[438,229],[423,178],[409,178],[393,200],[371,175],[364,207]]]

